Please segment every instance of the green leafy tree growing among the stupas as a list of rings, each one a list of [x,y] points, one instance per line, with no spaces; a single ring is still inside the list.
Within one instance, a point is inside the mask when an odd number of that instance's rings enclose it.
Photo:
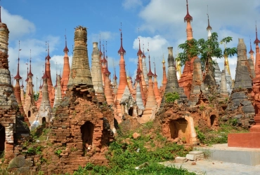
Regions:
[[[178,48],[181,48],[183,52],[179,53],[176,59],[181,62],[182,66],[187,61],[190,61],[190,58],[200,57],[202,71],[205,73],[204,83],[206,85],[216,85],[213,66],[216,62],[212,61],[212,57],[221,58],[224,55],[233,56],[237,53],[237,48],[226,48],[223,51],[219,48],[220,43],[229,43],[232,41],[232,37],[223,38],[220,42],[218,39],[218,34],[214,32],[207,40],[204,40],[204,38],[199,40],[193,38],[178,45]]]

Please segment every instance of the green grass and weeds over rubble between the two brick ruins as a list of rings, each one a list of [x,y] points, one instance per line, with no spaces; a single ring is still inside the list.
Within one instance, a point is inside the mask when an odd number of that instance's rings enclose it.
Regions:
[[[162,137],[158,130],[160,127],[152,123],[146,123],[136,132],[141,134],[137,139],[132,138],[132,131],[117,130],[119,136],[117,141],[112,142],[106,153],[109,160],[108,167],[88,164],[86,167],[79,167],[74,175],[80,174],[195,174],[186,169],[176,167],[166,167],[159,162],[174,160],[176,156],[185,156],[183,146],[168,142]],[[153,130],[152,133],[148,131]],[[123,132],[124,131],[124,132]],[[153,135],[150,139],[150,134]],[[143,163],[147,166],[135,169]]]

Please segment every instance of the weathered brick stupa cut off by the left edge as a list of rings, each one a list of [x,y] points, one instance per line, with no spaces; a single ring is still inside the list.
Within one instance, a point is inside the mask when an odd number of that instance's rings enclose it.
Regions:
[[[24,125],[25,117],[20,113],[11,84],[8,70],[8,38],[9,30],[7,25],[1,22],[0,6],[0,154],[3,155],[1,169],[5,169],[8,162],[15,157],[14,150],[18,140],[24,139],[30,133],[29,127]]]

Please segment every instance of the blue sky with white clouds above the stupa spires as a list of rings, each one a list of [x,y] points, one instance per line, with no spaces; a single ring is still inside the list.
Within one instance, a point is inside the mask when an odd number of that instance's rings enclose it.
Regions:
[[[189,0],[189,12],[193,16],[193,38],[207,38],[207,6],[212,32],[216,31],[220,38],[232,36],[228,47],[236,47],[238,38],[244,38],[249,51],[256,37],[255,24],[259,20],[259,0]],[[74,45],[74,28],[78,25],[88,27],[89,60],[94,41],[108,42],[109,69],[113,73],[113,62],[119,77],[120,22],[122,22],[123,46],[126,50],[126,70],[134,75],[136,69],[138,38],[145,55],[150,54],[151,62],[155,62],[158,82],[162,81],[162,55],[167,58],[167,47],[174,47],[174,55],[178,44],[186,41],[185,0],[110,0],[110,1],[33,1],[12,0],[1,1],[1,19],[8,25],[9,60],[11,74],[17,70],[18,41],[20,41],[20,74],[26,78],[27,59],[32,50],[32,73],[34,86],[36,77],[42,76],[46,41],[50,45],[51,73],[55,85],[56,71],[63,69],[63,48],[65,46],[65,29],[67,46],[72,60]],[[260,21],[259,31],[260,31]],[[259,36],[260,37],[260,36]],[[150,53],[147,52],[148,43]],[[255,45],[252,44],[253,50]],[[181,51],[181,50],[180,50]],[[155,61],[154,61],[155,60]],[[148,59],[147,66],[148,66]],[[91,62],[91,61],[90,61]],[[223,69],[223,59],[218,59]],[[229,58],[232,77],[235,77],[236,57]],[[152,69],[154,69],[153,64]],[[14,70],[14,73],[13,73]]]

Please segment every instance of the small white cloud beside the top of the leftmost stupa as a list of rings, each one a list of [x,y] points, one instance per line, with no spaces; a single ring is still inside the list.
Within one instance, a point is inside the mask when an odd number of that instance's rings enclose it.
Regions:
[[[11,33],[9,41],[20,38],[26,34],[32,34],[35,26],[29,20],[22,18],[20,15],[11,15],[8,10],[1,7],[1,20],[6,23]]]

